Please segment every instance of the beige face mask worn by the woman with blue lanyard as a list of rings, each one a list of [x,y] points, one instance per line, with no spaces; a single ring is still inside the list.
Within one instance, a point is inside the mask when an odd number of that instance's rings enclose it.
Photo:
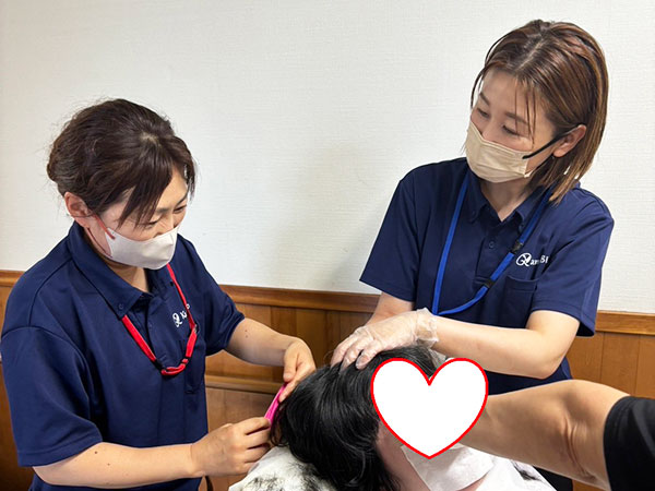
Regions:
[[[520,152],[483,139],[478,129],[471,121],[466,134],[466,160],[477,177],[489,182],[529,178],[535,169],[526,171],[527,159],[549,147],[562,136],[563,134],[556,136],[535,152]]]

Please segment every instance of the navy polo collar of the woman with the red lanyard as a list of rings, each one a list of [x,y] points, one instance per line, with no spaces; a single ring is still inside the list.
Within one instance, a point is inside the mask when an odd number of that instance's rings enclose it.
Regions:
[[[69,230],[67,244],[71,252],[71,258],[80,272],[91,282],[107,301],[111,310],[119,319],[132,308],[132,306],[142,296],[150,296],[123,280],[111,271],[98,254],[93,250],[84,238],[84,229],[74,223]],[[168,272],[163,267],[157,271],[146,270],[151,287],[158,291],[166,291],[166,279]],[[166,275],[166,278],[164,278]]]

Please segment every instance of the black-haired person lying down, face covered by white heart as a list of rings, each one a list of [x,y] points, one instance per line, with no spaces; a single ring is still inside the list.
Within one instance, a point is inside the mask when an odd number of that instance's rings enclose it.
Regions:
[[[371,378],[388,360],[430,376],[440,354],[410,346],[378,354],[362,370],[322,367],[281,403],[275,445],[230,491],[552,490],[531,466],[455,445],[427,459],[401,445],[376,412]]]

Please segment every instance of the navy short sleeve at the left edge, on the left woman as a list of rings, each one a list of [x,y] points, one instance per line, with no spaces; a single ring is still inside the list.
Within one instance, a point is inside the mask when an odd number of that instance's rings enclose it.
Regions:
[[[21,466],[52,464],[103,441],[92,421],[88,371],[73,345],[20,327],[0,347]]]

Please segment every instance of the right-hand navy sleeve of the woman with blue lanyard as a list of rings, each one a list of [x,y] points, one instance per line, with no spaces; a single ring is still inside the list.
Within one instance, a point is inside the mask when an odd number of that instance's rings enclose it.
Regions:
[[[603,262],[612,227],[609,212],[596,200],[569,221],[569,230],[539,278],[532,311],[565,313],[580,321],[577,335],[594,334]]]

